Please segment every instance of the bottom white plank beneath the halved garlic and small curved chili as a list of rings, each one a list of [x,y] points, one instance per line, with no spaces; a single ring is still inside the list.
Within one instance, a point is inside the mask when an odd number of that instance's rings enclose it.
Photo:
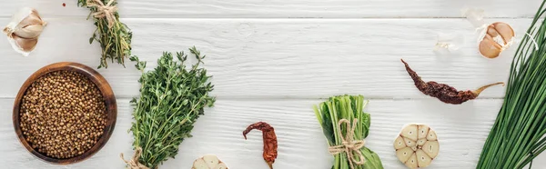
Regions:
[[[119,158],[132,155],[132,134],[128,134],[131,110],[128,99],[118,99],[119,114],[116,130],[105,147],[90,159],[66,165],[63,168],[123,168]],[[262,159],[262,140],[259,132],[241,132],[248,124],[266,121],[275,127],[278,134],[278,159],[274,167],[279,169],[329,168],[332,158],[328,154],[326,140],[322,134],[313,104],[322,100],[217,100],[215,107],[207,109],[196,123],[192,134],[180,145],[176,159],[169,159],[162,169],[187,168],[202,154],[217,154],[230,168],[267,168]],[[403,124],[430,124],[440,139],[440,154],[430,169],[473,168],[480,155],[481,146],[489,134],[501,100],[483,99],[471,104],[441,104],[435,100],[371,100],[366,112],[371,114],[371,129],[367,144],[379,154],[385,168],[402,169],[395,156],[392,143]],[[10,111],[13,100],[0,100],[0,111]],[[426,108],[425,108],[426,107]],[[31,154],[16,140],[9,119],[0,119],[0,159],[7,168],[58,168],[45,164]],[[535,169],[546,167],[546,156],[539,156]]]

